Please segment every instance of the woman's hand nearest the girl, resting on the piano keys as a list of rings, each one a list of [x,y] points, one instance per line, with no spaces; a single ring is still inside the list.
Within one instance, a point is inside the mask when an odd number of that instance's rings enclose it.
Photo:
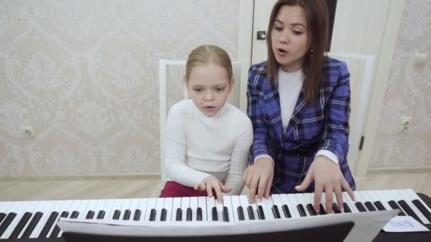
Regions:
[[[256,195],[258,199],[269,197],[272,178],[274,178],[274,167],[272,159],[268,157],[257,159],[245,170],[243,179],[245,185],[250,189],[250,202],[254,202]]]

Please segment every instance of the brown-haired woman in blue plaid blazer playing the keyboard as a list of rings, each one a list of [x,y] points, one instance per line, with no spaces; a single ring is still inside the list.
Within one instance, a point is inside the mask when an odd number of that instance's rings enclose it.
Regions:
[[[315,192],[319,212],[325,192],[330,212],[332,202],[342,209],[342,190],[354,199],[346,160],[349,71],[324,55],[328,22],[323,0],[280,0],[272,9],[268,59],[250,67],[247,87],[254,140],[244,180],[251,200],[270,192]]]

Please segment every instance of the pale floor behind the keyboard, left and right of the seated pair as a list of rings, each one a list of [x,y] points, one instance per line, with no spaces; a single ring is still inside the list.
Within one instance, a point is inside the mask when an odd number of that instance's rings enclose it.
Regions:
[[[431,173],[356,176],[357,190],[412,188],[431,196]],[[158,197],[164,183],[154,179],[1,179],[0,201]],[[247,195],[247,188],[243,194]]]

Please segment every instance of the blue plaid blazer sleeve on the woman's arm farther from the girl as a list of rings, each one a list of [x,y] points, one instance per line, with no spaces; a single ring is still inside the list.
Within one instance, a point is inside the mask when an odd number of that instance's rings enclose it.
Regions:
[[[325,106],[325,127],[320,149],[335,154],[340,165],[345,163],[349,151],[350,84],[349,71],[341,62],[337,83]]]

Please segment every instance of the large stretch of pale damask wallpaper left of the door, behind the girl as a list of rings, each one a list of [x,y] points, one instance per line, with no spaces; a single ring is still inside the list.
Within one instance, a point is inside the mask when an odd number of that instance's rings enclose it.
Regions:
[[[203,43],[237,60],[238,8],[1,0],[0,175],[158,173],[158,60]]]

